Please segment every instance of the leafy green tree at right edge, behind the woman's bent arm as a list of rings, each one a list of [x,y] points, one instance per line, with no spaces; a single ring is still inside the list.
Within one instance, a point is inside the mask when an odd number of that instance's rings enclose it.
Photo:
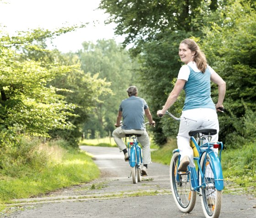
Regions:
[[[255,139],[254,128],[248,124],[255,125],[248,114],[256,110],[255,9],[255,3],[250,1],[230,1],[220,14],[222,22],[213,22],[211,27],[205,28],[206,36],[202,40],[208,62],[226,81],[224,105],[229,116],[219,118],[220,137],[230,146],[235,146],[234,139],[240,145]],[[213,94],[217,101],[217,93]]]

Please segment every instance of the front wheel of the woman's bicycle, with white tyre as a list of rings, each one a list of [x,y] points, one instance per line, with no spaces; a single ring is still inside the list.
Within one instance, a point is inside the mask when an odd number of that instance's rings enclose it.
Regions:
[[[189,174],[177,176],[179,155],[179,152],[175,152],[171,158],[171,192],[177,207],[182,212],[189,213],[195,206],[197,194],[196,192],[191,191],[191,182],[189,179]],[[178,181],[176,178],[179,178]]]

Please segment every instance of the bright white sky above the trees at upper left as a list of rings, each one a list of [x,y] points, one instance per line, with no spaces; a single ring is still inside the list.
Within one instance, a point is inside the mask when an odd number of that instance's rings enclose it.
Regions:
[[[59,27],[89,22],[83,29],[60,35],[53,40],[62,52],[77,51],[82,42],[123,37],[114,35],[115,24],[105,25],[108,15],[97,10],[100,0],[0,0],[0,25],[10,35],[17,30]]]

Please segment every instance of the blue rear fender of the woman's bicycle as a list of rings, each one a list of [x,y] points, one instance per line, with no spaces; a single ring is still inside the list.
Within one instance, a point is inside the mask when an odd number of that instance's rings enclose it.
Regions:
[[[212,168],[213,168],[213,174],[215,178],[215,188],[221,191],[224,188],[224,179],[223,179],[222,167],[219,161],[219,157],[214,151],[209,152],[208,155],[210,156],[213,164]]]

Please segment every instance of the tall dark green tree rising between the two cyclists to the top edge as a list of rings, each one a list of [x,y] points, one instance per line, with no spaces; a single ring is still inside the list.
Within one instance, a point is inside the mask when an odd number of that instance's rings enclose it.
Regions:
[[[173,88],[172,81],[181,67],[178,45],[184,38],[202,35],[202,26],[209,22],[212,10],[217,10],[223,2],[101,1],[100,8],[110,14],[108,22],[117,23],[116,34],[125,35],[123,44],[132,43],[130,54],[139,56],[142,65],[139,70],[140,84],[154,119],[158,121],[154,128],[154,140],[159,144],[165,143],[174,132],[155,117],[155,112],[164,105]],[[181,111],[181,105],[179,107],[177,112]]]

